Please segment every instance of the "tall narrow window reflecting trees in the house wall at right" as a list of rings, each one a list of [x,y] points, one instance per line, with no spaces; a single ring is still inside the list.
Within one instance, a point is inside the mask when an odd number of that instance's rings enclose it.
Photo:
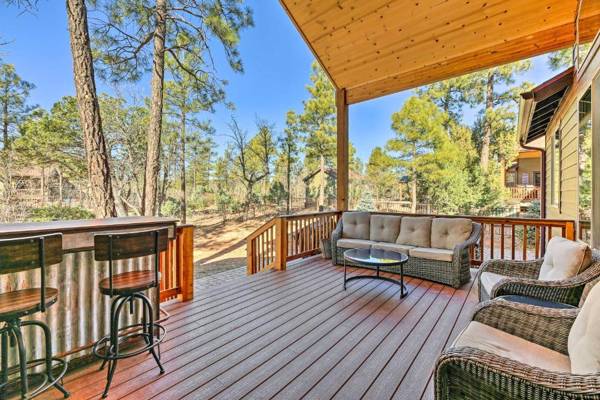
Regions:
[[[578,140],[579,190],[578,223],[579,239],[590,243],[592,220],[592,93],[585,92],[579,100]]]

